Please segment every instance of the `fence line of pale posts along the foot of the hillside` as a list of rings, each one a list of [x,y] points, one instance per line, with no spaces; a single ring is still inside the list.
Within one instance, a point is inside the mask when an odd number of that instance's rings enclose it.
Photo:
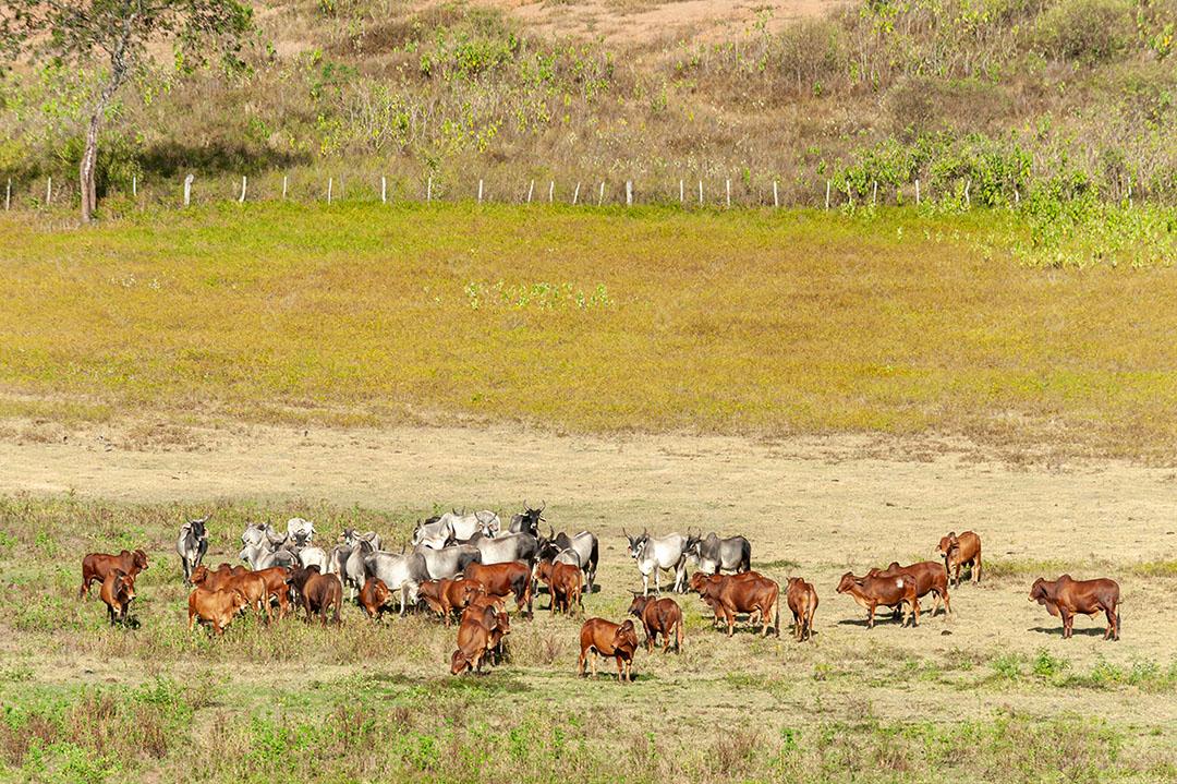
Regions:
[[[4,210],[46,210],[77,207],[77,177],[46,175],[38,180],[8,178],[5,184]],[[100,201],[120,201],[132,206],[191,207],[237,201],[322,202],[425,202],[474,201],[478,204],[560,204],[583,206],[678,205],[684,208],[807,207],[845,208],[860,206],[922,205],[952,200],[957,206],[973,206],[972,182],[965,178],[937,182],[936,191],[915,179],[905,184],[872,181],[865,188],[838,186],[832,179],[811,185],[780,179],[759,178],[678,178],[651,179],[566,179],[547,178],[474,178],[392,177],[387,174],[306,175],[272,171],[254,174],[201,175],[146,179],[132,175],[128,184],[107,188]],[[997,204],[1017,206],[1025,193],[1005,187],[996,194]],[[1128,188],[1128,202],[1132,188]],[[995,205],[992,190],[985,201]],[[100,202],[101,206],[101,202]]]

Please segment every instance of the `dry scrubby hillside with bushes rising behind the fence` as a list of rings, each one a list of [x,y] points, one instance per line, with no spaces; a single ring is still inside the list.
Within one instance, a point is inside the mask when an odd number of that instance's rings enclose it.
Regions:
[[[281,170],[392,178],[394,197],[501,198],[531,178],[633,179],[678,198],[791,205],[1028,197],[1172,202],[1173,0],[769,2],[271,0],[244,73],[160,52],[113,112],[100,188],[172,199]],[[19,204],[73,187],[86,74],[4,87],[0,167]],[[208,186],[212,187],[212,186]],[[208,193],[208,187],[204,193]],[[367,187],[371,187],[370,185]],[[970,188],[967,199],[964,190]],[[152,195],[153,194],[153,195]],[[564,194],[567,198],[567,194]],[[1036,204],[1038,204],[1036,201]],[[108,201],[118,210],[118,201]]]

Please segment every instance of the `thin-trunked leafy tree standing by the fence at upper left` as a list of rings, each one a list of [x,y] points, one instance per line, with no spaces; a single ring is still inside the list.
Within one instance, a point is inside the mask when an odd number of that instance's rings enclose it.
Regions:
[[[106,108],[146,62],[148,45],[172,42],[191,67],[207,62],[210,49],[240,65],[237,55],[252,27],[252,9],[239,0],[0,0],[0,42],[9,60],[106,64],[105,73],[98,72],[78,171],[82,222],[98,201],[98,134]]]

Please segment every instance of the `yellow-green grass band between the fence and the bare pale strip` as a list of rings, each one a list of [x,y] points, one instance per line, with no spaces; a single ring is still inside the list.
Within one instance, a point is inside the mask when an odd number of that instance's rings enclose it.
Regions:
[[[1012,222],[1011,222],[1012,221]],[[225,205],[0,222],[7,416],[957,433],[1166,459],[1177,271],[1013,213]]]

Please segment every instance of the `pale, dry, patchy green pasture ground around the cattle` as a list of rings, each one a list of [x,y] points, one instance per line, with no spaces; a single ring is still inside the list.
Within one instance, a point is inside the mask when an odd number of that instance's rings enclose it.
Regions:
[[[75,436],[4,445],[4,487],[27,466],[72,489],[0,504],[0,753],[16,779],[1159,782],[1177,765],[1166,470],[896,460],[855,439],[253,427],[186,452]],[[578,680],[579,619],[543,610],[512,618],[512,660],[481,677],[450,677],[453,630],[420,616],[372,624],[348,606],[341,629],[185,630],[172,546],[186,516],[213,514],[218,563],[247,521],[299,513],[331,537],[354,525],[399,543],[446,503],[511,512],[523,494],[546,498],[557,530],[600,536],[590,616],[620,619],[640,586],[623,526],[694,525],[749,536],[774,579],[813,582],[816,639],[726,639],[698,597],[677,597],[684,653],[639,652],[620,686]],[[102,500],[118,498],[137,501]],[[952,591],[953,620],[867,631],[833,592],[847,569],[930,557],[949,527],[988,547],[980,585]],[[109,629],[101,603],[77,599],[78,562],[132,545],[152,557],[139,627]],[[1122,642],[1085,617],[1062,640],[1026,600],[1064,570],[1121,582]]]

